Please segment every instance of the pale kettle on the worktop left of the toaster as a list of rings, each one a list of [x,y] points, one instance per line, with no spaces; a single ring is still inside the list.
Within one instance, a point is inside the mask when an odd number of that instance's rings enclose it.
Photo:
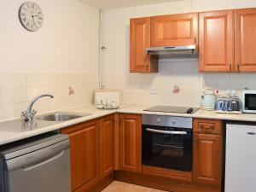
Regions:
[[[211,87],[201,90],[204,95],[201,96],[201,107],[206,109],[214,109],[216,95]]]

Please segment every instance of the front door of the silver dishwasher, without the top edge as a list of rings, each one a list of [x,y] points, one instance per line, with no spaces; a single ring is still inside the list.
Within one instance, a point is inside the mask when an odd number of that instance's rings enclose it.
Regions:
[[[69,141],[3,163],[5,192],[71,192]]]

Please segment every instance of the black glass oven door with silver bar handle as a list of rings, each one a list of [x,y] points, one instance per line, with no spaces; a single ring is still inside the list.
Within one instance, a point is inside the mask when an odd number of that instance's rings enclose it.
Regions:
[[[143,125],[143,165],[192,171],[192,129]]]

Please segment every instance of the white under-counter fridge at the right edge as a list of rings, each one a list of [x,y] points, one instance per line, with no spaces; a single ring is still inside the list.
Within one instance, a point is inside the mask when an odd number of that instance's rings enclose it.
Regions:
[[[256,191],[256,125],[227,125],[225,192]]]

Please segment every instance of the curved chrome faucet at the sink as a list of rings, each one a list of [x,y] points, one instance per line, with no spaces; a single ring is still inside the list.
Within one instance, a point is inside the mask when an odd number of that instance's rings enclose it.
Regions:
[[[34,115],[37,113],[37,111],[32,109],[32,107],[33,107],[34,103],[38,101],[38,99],[40,99],[44,96],[49,96],[50,98],[54,98],[54,96],[49,95],[49,94],[40,95],[40,96],[33,98],[32,101],[28,104],[27,109],[21,113],[21,119],[24,119],[26,122],[32,121],[32,119],[34,118]]]

